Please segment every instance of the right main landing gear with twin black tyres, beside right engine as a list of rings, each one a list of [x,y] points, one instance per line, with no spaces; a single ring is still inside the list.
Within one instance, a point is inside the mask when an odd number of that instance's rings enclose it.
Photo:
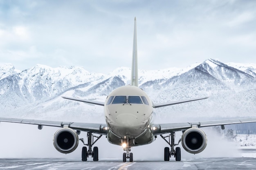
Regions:
[[[176,161],[180,161],[181,160],[180,147],[176,147],[176,149],[174,150],[174,146],[178,145],[181,139],[179,140],[178,144],[174,144],[175,132],[170,132],[170,134],[167,136],[163,136],[163,135],[160,135],[160,136],[171,146],[171,151],[169,147],[164,148],[164,161],[169,161],[172,155],[175,157]],[[169,139],[168,141],[165,139],[167,137]],[[171,140],[170,140],[170,137],[171,137]]]

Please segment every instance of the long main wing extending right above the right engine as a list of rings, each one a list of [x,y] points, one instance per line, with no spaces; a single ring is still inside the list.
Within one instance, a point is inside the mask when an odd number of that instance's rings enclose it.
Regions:
[[[170,124],[153,124],[154,135],[161,135],[166,132],[183,131],[198,126],[198,128],[209,126],[221,126],[229,124],[243,124],[256,122],[256,117],[245,119],[227,119],[227,120],[213,120],[213,121],[199,121],[199,122],[184,122],[184,123],[170,123]]]

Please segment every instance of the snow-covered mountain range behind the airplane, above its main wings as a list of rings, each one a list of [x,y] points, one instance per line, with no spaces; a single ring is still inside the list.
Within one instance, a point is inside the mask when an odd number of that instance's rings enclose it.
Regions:
[[[130,68],[126,67],[101,74],[76,66],[51,68],[40,64],[18,71],[6,64],[0,66],[1,117],[102,122],[101,106],[61,96],[104,101],[113,89],[127,84]],[[256,64],[224,64],[209,59],[183,69],[139,70],[139,86],[154,103],[210,96],[202,101],[157,108],[155,117],[162,122],[256,115]]]

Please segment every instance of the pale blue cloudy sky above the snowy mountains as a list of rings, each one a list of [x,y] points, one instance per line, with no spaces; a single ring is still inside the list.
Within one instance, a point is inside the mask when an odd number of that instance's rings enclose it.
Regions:
[[[209,58],[256,63],[255,0],[0,0],[0,65],[25,70],[185,68]]]

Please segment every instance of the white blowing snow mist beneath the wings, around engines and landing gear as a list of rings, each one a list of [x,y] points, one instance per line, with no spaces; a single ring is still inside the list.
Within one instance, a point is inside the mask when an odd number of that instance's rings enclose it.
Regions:
[[[79,142],[78,148],[70,154],[62,154],[53,146],[53,136],[58,130],[56,127],[44,126],[38,130],[36,125],[0,123],[0,158],[63,158],[81,160],[81,150],[83,144]],[[207,135],[208,143],[204,151],[199,154],[190,154],[186,152],[182,145],[182,161],[193,158],[204,157],[240,157],[235,142],[227,141],[220,133],[212,128],[202,128]],[[181,138],[182,132],[175,134],[175,143]],[[80,138],[86,140],[86,132],[81,132]],[[110,144],[105,136],[102,136],[94,146],[99,148],[99,160],[116,160],[122,161],[121,146]],[[164,147],[168,144],[160,137],[149,145],[132,147],[131,152],[135,161],[163,161]],[[170,159],[174,161],[172,157]],[[92,161],[89,157],[88,161]]]

